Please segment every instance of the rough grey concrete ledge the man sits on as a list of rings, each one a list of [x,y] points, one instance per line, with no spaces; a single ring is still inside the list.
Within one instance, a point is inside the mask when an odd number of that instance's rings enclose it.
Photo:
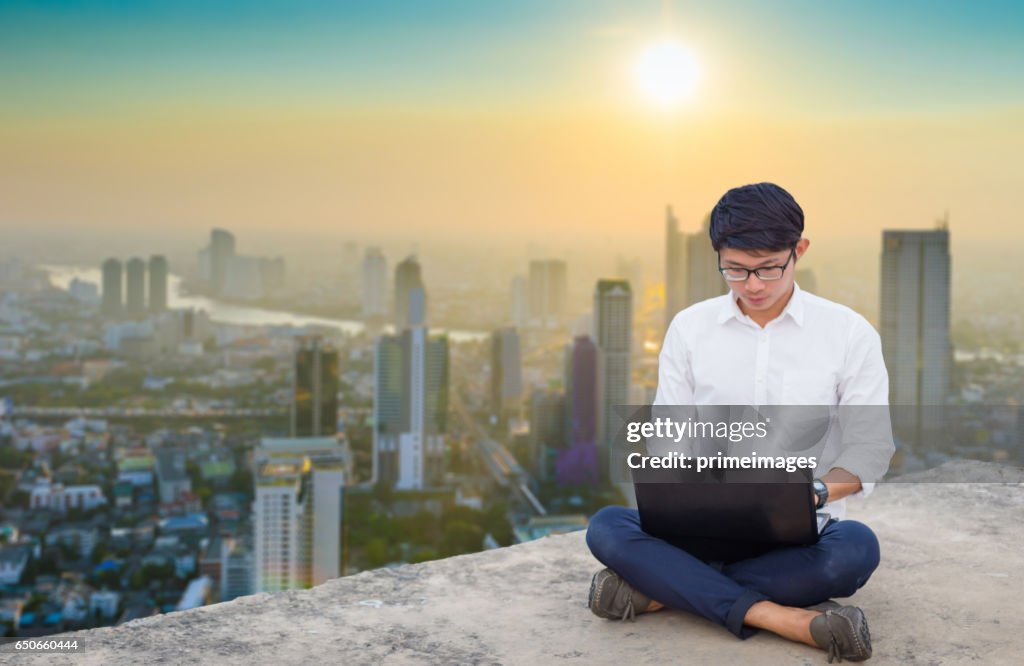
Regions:
[[[965,470],[982,470],[978,463]],[[974,465],[974,467],[972,467]],[[988,468],[991,471],[991,467]],[[927,476],[926,476],[927,477]],[[850,502],[882,565],[855,602],[873,664],[1024,659],[1024,473],[1002,483],[902,483]],[[74,635],[72,664],[821,664],[819,650],[761,632],[739,640],[677,611],[636,623],[586,606],[599,569],[583,533],[367,572]]]

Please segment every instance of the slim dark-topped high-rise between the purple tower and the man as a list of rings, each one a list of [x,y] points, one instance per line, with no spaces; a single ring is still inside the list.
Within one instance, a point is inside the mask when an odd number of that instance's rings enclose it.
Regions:
[[[594,290],[594,331],[598,348],[597,442],[602,477],[622,418],[615,407],[629,405],[633,294],[625,280],[599,280]]]

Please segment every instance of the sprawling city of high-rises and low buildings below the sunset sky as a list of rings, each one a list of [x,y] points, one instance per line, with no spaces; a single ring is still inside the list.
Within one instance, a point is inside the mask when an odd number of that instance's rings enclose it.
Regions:
[[[240,255],[223,228],[180,272],[159,254],[94,268],[5,259],[6,633],[123,623],[584,529],[627,501],[607,469],[614,408],[650,403],[658,335],[727,288],[707,216],[681,232],[670,207],[664,225],[664,276],[620,260],[580,303],[565,260],[534,259],[490,295],[506,311],[481,331],[431,328],[445,304],[429,273],[378,246],[353,272],[352,319],[263,325],[288,285],[285,258]],[[949,236],[940,221],[880,240],[891,402],[919,408],[894,411],[894,473],[1024,462],[1024,355],[957,344]],[[813,269],[798,266],[797,281],[820,291]],[[229,304],[234,321],[175,306],[193,301]],[[946,438],[926,413],[968,407],[980,408],[969,431]]]

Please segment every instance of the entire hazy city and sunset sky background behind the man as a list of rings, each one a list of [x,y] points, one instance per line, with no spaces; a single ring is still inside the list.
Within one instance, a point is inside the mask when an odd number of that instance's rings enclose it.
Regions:
[[[629,504],[750,182],[881,335],[889,477],[1024,465],[1019,8],[294,4],[0,6],[0,637]]]

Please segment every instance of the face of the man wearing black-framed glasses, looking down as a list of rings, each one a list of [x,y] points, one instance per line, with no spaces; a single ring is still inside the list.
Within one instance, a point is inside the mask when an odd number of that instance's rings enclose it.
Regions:
[[[763,268],[766,266],[785,265],[782,277],[778,280],[761,280],[751,274],[745,282],[727,282],[732,293],[739,299],[740,309],[748,315],[754,313],[778,315],[785,306],[783,300],[793,289],[796,275],[796,259],[807,250],[809,241],[801,239],[795,250],[737,250],[722,248],[719,252],[719,264],[723,268]],[[793,253],[793,257],[791,257]],[[775,310],[778,311],[775,311]]]

